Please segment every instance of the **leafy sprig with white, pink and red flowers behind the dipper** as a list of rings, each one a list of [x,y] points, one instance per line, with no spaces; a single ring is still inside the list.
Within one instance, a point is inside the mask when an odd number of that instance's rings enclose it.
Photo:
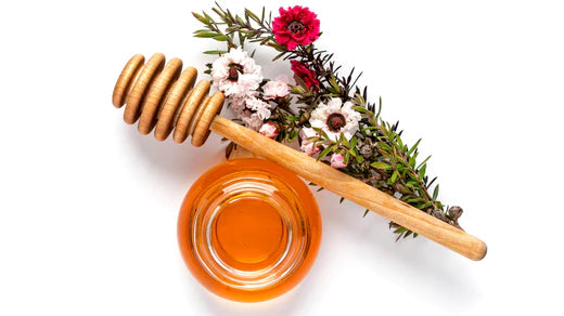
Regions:
[[[438,200],[439,185],[433,186],[436,177],[430,181],[426,174],[431,156],[418,162],[421,140],[405,144],[398,122],[382,119],[382,98],[376,108],[367,101],[368,89],[357,85],[361,74],[352,69],[341,76],[333,54],[315,47],[321,32],[313,12],[299,5],[280,8],[272,19],[264,8],[260,16],[249,10],[233,15],[217,3],[211,10],[218,21],[206,12],[193,13],[205,27],[194,35],[227,45],[204,52],[218,55],[206,73],[226,94],[235,120],[278,142],[297,141],[307,155],[461,228],[462,209],[444,206]],[[253,60],[255,51],[251,55],[244,51],[248,43],[275,50],[273,61],[289,61],[295,84],[264,78]],[[398,234],[397,240],[418,235],[396,223],[389,227]]]

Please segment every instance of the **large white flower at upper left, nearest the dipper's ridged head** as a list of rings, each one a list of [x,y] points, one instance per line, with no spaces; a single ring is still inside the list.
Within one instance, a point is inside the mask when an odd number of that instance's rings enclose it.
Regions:
[[[238,48],[214,62],[211,80],[226,96],[255,95],[262,81],[260,69],[246,52]]]

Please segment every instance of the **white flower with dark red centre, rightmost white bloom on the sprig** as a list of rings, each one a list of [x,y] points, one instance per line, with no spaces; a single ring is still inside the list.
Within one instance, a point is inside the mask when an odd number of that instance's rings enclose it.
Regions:
[[[358,130],[360,114],[352,108],[352,103],[341,98],[332,98],[328,104],[321,103],[311,111],[309,122],[312,128],[323,130],[328,136],[337,141],[341,133],[345,139],[350,140]]]

